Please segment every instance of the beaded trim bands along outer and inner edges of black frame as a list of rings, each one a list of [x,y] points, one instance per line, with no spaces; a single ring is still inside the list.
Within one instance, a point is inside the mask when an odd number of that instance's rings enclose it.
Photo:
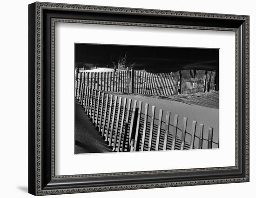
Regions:
[[[167,182],[167,183],[152,183],[141,185],[118,185],[118,186],[102,186],[94,188],[72,188],[65,190],[41,190],[41,13],[43,8],[60,8],[65,10],[88,10],[88,11],[109,11],[117,13],[146,13],[152,15],[176,15],[176,16],[191,16],[203,18],[217,18],[217,19],[237,19],[245,20],[246,23],[246,177],[245,178],[230,178],[230,179],[210,179],[210,180],[197,180],[186,182]],[[216,168],[200,168],[200,169],[181,169],[181,170],[164,170],[164,171],[145,171],[145,172],[119,172],[119,173],[102,173],[102,174],[87,174],[87,175],[63,175],[55,176],[55,152],[54,152],[54,40],[55,40],[55,23],[68,22],[68,23],[90,23],[90,24],[104,24],[104,25],[121,25],[121,26],[151,26],[151,27],[167,27],[167,28],[183,28],[183,29],[202,29],[202,30],[222,30],[222,31],[235,31],[236,32],[236,166],[232,167],[216,167]],[[69,20],[69,19],[52,19],[52,178],[83,178],[83,177],[99,177],[99,176],[115,176],[115,175],[133,175],[133,174],[154,174],[154,173],[167,173],[167,172],[188,172],[188,171],[209,171],[209,170],[228,170],[237,168],[238,158],[238,130],[237,130],[237,106],[238,106],[238,60],[237,60],[237,30],[232,28],[219,28],[219,27],[204,27],[204,26],[174,26],[174,25],[161,25],[161,24],[146,24],[146,23],[128,23],[128,22],[113,22],[113,21],[96,21],[96,20]],[[194,13],[194,12],[180,12],[180,11],[166,11],[166,10],[151,10],[151,9],[138,9],[138,8],[123,8],[123,7],[101,7],[101,6],[88,6],[88,5],[73,5],[73,4],[59,4],[59,3],[44,3],[36,2],[36,195],[49,195],[49,194],[66,194],[66,193],[80,193],[80,192],[96,192],[96,191],[116,191],[116,190],[130,190],[130,189],[144,189],[144,188],[160,188],[171,186],[188,186],[188,185],[206,185],[206,184],[222,184],[222,183],[236,183],[249,181],[249,16],[243,15],[230,15],[230,14],[216,14],[216,13]]]

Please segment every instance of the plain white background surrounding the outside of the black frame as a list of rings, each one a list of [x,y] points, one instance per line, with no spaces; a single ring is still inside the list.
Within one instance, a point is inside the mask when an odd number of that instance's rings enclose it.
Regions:
[[[31,0],[1,2],[0,10],[0,196],[32,197],[27,194],[27,5]],[[48,2],[138,7],[177,11],[250,15],[250,123],[256,120],[256,12],[253,0],[48,0]],[[250,182],[161,189],[111,191],[56,197],[255,197],[255,129],[250,128]],[[50,196],[52,197],[52,196]]]

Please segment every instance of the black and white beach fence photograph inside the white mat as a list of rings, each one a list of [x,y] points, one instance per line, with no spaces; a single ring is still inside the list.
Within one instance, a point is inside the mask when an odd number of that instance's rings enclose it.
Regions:
[[[219,148],[219,49],[74,48],[75,154]]]

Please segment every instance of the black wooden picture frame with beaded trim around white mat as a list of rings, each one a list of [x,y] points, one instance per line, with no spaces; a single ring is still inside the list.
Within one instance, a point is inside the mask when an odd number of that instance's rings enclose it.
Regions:
[[[42,2],[30,4],[28,13],[29,193],[46,195],[249,181],[249,16]],[[53,25],[54,21],[65,20],[235,31],[236,166],[55,176]]]

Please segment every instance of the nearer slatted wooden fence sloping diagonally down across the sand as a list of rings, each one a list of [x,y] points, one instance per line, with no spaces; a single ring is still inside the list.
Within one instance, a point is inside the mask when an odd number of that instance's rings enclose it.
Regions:
[[[196,135],[196,121],[192,122],[190,130],[188,119],[182,118],[182,128],[179,128],[178,115],[172,119],[171,112],[157,110],[155,106],[150,108],[148,104],[143,107],[142,101],[116,96],[83,83],[76,99],[115,152],[202,149],[212,148],[213,144],[218,147],[218,143],[213,142],[212,127],[205,139],[203,124],[199,124],[199,135]],[[155,116],[157,111],[158,117]]]

